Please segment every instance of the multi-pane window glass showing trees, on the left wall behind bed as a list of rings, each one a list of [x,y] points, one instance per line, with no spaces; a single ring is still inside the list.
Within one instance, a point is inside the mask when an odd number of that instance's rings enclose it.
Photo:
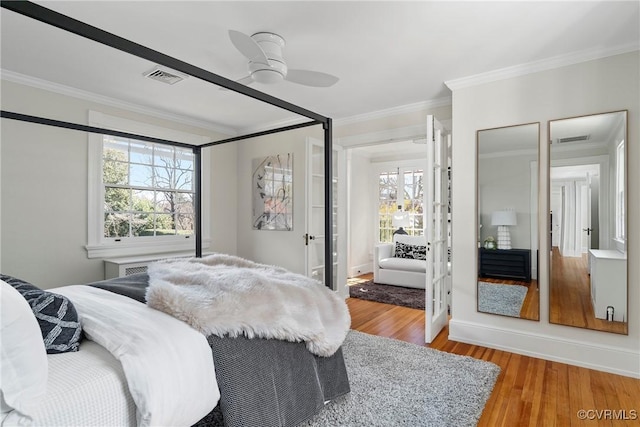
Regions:
[[[104,237],[191,236],[191,150],[103,137]]]

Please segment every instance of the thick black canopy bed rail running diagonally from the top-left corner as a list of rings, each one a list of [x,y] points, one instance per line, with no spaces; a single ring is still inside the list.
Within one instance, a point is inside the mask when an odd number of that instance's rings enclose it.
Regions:
[[[233,80],[229,80],[225,77],[219,76],[218,74],[196,67],[187,62],[181,61],[169,55],[165,55],[161,52],[142,46],[125,38],[116,36],[115,34],[101,30],[100,28],[86,24],[82,21],[78,21],[77,19],[73,19],[67,15],[63,15],[51,9],[47,9],[46,7],[40,6],[38,4],[31,3],[29,1],[2,0],[1,5],[5,9],[19,13],[37,21],[44,22],[46,24],[52,25],[73,34],[77,34],[98,43],[111,46],[115,49],[127,52],[139,58],[147,59],[151,62],[164,65],[176,71],[181,71],[190,76],[221,86],[225,89],[229,89],[234,92],[241,93],[245,96],[265,102],[267,104],[282,108],[287,111],[291,111],[292,113],[308,117],[321,123],[326,123],[327,121],[327,117],[314,113],[313,111],[307,110],[298,105],[291,104],[287,101],[268,95],[264,92],[252,89]]]

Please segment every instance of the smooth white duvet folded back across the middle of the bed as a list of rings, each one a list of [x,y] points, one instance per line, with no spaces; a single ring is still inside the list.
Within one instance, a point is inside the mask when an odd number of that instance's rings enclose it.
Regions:
[[[75,285],[51,291],[73,302],[87,338],[122,365],[139,426],[190,426],[215,407],[220,392],[211,347],[195,329],[102,289]]]

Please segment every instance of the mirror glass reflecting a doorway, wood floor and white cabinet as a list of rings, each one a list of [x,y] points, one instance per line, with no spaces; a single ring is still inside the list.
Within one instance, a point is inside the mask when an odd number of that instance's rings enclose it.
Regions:
[[[549,322],[627,334],[627,112],[549,122]]]

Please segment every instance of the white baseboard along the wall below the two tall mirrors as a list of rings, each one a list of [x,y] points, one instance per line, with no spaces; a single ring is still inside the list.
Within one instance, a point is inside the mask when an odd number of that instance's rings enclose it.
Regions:
[[[449,340],[640,378],[640,354],[626,348],[602,346],[454,319],[449,321]]]

